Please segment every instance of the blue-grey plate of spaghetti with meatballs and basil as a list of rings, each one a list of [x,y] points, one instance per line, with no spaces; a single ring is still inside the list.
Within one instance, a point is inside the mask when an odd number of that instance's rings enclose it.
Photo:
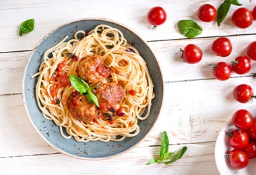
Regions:
[[[46,34],[23,79],[26,112],[55,149],[81,159],[119,155],[154,126],[163,98],[160,67],[131,29],[86,18]]]

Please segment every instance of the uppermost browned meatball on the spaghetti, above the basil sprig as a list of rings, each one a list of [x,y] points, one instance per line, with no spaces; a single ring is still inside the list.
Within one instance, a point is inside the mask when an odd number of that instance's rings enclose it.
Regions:
[[[88,83],[99,83],[110,75],[110,69],[104,66],[101,56],[93,55],[79,62],[77,73]]]

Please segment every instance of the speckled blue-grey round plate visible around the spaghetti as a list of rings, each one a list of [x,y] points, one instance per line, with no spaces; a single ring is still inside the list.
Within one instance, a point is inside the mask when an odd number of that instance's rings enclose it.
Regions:
[[[101,141],[89,141],[88,143],[82,143],[75,141],[73,138],[65,139],[61,137],[59,127],[55,125],[53,121],[46,120],[42,116],[35,99],[37,78],[32,79],[31,76],[38,72],[38,67],[42,62],[43,54],[47,49],[60,42],[66,35],[69,36],[69,39],[73,38],[75,31],[92,30],[98,24],[107,24],[114,28],[118,28],[121,30],[121,32],[123,32],[125,38],[127,38],[127,42],[135,42],[135,48],[139,50],[140,55],[147,62],[150,75],[152,76],[155,85],[154,93],[156,96],[152,101],[152,110],[150,112],[150,116],[146,120],[139,121],[139,135],[132,138],[126,138],[120,142],[109,141],[104,143]],[[38,42],[34,50],[32,50],[32,54],[28,60],[28,64],[26,65],[22,93],[24,106],[32,125],[34,125],[36,131],[38,131],[40,136],[42,136],[42,138],[49,143],[49,145],[55,147],[55,149],[61,151],[62,153],[66,153],[67,155],[71,155],[73,157],[81,159],[102,159],[119,155],[120,153],[131,149],[135,147],[139,141],[146,137],[156,122],[162,106],[163,81],[162,73],[160,72],[160,67],[154,53],[152,50],[150,50],[146,42],[141,40],[141,38],[139,38],[135,32],[117,22],[98,18],[86,18],[63,24],[62,26],[59,26],[58,28],[55,28],[49,32],[49,34],[46,34],[46,36],[44,36],[42,40]]]

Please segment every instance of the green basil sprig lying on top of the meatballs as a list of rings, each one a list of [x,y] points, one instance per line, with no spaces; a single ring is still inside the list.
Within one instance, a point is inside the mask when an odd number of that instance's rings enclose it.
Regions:
[[[71,85],[73,85],[73,88],[75,88],[75,90],[77,90],[81,95],[86,94],[86,98],[89,102],[100,107],[98,104],[98,98],[94,94],[92,94],[88,83],[86,83],[84,79],[81,79],[75,75],[70,75],[69,80],[71,82]]]

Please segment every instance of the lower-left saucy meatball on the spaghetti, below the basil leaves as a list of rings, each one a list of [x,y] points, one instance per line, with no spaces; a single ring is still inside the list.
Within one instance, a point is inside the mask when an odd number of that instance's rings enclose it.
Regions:
[[[77,120],[88,122],[98,116],[98,108],[95,104],[90,103],[86,95],[80,95],[79,92],[73,92],[67,98],[67,109]]]

